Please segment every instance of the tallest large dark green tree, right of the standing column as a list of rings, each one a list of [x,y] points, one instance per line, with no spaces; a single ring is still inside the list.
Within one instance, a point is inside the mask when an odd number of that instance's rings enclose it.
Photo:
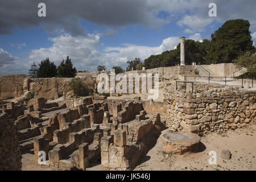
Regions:
[[[255,53],[256,49],[251,41],[248,20],[234,19],[226,21],[214,35],[207,47],[207,64],[232,63],[232,60],[246,52]]]

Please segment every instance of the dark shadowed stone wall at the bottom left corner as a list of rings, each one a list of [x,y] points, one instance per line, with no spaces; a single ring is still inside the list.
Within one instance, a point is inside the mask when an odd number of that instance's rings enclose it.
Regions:
[[[0,170],[21,170],[18,131],[7,113],[0,115]]]

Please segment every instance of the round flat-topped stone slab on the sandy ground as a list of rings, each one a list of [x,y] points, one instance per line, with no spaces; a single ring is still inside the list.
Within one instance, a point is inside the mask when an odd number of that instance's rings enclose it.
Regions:
[[[170,132],[162,135],[163,151],[184,154],[199,150],[200,137],[190,132]]]

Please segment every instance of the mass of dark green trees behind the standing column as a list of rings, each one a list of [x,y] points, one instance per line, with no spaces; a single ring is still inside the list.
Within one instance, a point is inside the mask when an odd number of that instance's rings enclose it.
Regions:
[[[210,41],[205,39],[200,43],[185,40],[185,64],[232,63],[234,59],[246,52],[255,53],[256,48],[251,41],[249,27],[250,23],[247,20],[228,20],[211,35]],[[164,51],[160,55],[151,55],[144,60],[146,69],[171,67],[178,64],[180,64],[180,43],[174,50]]]

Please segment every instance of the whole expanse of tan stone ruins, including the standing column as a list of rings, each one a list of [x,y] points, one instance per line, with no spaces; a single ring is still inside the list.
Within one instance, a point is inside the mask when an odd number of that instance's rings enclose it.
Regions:
[[[95,163],[132,170],[159,137],[164,152],[184,154],[199,150],[201,136],[255,125],[255,90],[187,78],[196,69],[203,79],[204,69],[217,74],[223,68],[219,74],[229,76],[237,68],[185,65],[180,40],[180,65],[125,73],[158,73],[156,100],[141,92],[142,80],[133,85],[139,93],[104,95],[97,93],[95,73],[79,73],[93,95],[77,97],[68,86],[72,78],[1,76],[0,169],[20,170],[22,155],[32,154],[35,164],[55,170],[87,170]]]

